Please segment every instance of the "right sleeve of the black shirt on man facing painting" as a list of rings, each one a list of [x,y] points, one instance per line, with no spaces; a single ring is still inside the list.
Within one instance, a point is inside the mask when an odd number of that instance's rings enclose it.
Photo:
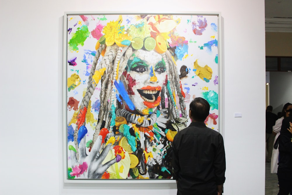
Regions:
[[[221,134],[219,134],[218,137],[218,149],[214,158],[214,169],[216,184],[217,185],[223,184],[225,182],[226,161],[223,137]]]

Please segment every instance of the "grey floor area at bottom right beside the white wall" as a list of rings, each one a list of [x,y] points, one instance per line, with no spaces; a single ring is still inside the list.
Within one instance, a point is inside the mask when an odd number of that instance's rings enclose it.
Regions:
[[[271,163],[266,163],[265,180],[265,195],[277,195],[279,192],[278,177],[276,173],[271,173]]]

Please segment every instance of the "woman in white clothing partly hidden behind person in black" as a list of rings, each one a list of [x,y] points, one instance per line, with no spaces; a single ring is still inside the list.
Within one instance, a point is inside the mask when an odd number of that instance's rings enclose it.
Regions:
[[[282,120],[288,116],[288,112],[286,112],[286,111],[291,109],[291,108],[292,108],[292,104],[291,103],[286,103],[284,105],[283,109],[282,109],[282,117],[279,118],[278,120],[276,120],[276,123],[273,126],[273,133],[277,133],[276,137],[275,137],[275,140],[274,140],[274,144],[275,144],[277,138],[280,135],[280,130],[281,130],[281,126],[282,126]],[[279,162],[279,149],[277,147],[277,149],[273,148],[273,151],[272,151],[271,173],[277,173],[278,162]]]

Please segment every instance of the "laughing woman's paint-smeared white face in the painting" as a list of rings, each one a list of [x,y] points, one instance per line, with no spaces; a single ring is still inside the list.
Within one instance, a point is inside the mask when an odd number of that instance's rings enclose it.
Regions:
[[[167,82],[162,56],[155,51],[135,51],[121,76],[121,81],[136,111],[142,115],[153,113],[161,101],[161,88]],[[127,106],[125,108],[129,110]]]

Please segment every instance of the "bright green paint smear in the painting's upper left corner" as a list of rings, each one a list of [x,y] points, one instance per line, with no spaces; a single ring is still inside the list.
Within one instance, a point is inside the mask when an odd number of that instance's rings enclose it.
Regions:
[[[75,33],[72,33],[72,38],[69,41],[69,47],[73,51],[78,51],[79,48],[77,47],[78,45],[83,46],[84,41],[86,40],[87,37],[89,37],[89,31],[88,27],[86,25],[82,25],[81,27],[77,28],[77,31]]]

